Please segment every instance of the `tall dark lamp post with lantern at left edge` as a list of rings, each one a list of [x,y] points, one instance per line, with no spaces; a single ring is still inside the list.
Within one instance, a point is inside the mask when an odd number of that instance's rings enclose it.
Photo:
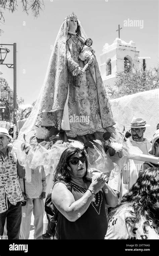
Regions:
[[[13,68],[13,118],[16,125],[16,43],[13,45],[13,64],[3,63],[7,53],[10,52],[9,49],[3,46],[8,46],[8,44],[1,44],[0,46],[0,65],[6,65],[8,68]]]

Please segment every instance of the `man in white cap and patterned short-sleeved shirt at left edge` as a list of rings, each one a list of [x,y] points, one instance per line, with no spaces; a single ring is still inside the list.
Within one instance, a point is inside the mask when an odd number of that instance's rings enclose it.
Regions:
[[[8,239],[19,239],[23,196],[18,176],[23,178],[25,171],[11,153],[11,138],[7,129],[0,128],[0,235],[7,221]]]

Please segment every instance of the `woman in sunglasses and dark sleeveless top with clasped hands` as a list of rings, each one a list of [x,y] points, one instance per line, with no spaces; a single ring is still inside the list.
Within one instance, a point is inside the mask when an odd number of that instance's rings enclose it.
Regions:
[[[86,178],[87,167],[83,149],[70,147],[62,153],[52,190],[52,202],[59,211],[54,239],[104,239],[108,227],[105,204],[115,207],[118,199],[103,173]]]

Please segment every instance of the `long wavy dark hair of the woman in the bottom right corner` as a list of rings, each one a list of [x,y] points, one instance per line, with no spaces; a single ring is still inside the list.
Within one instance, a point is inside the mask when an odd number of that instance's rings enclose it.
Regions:
[[[129,210],[130,216],[125,219],[135,228],[135,224],[140,221],[141,216],[146,218],[143,229],[148,233],[146,226],[149,224],[149,218],[159,221],[159,168],[148,168],[137,179],[137,182],[131,187],[129,193],[123,196],[120,205],[113,208],[110,217],[114,215],[117,209],[124,206],[132,206],[134,212]]]

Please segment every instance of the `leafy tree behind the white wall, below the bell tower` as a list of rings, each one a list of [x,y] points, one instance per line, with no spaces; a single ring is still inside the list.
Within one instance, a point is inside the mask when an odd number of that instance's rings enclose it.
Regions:
[[[159,88],[159,70],[156,67],[145,71],[134,67],[133,72],[118,72],[116,77],[114,88],[107,86],[111,98]]]

